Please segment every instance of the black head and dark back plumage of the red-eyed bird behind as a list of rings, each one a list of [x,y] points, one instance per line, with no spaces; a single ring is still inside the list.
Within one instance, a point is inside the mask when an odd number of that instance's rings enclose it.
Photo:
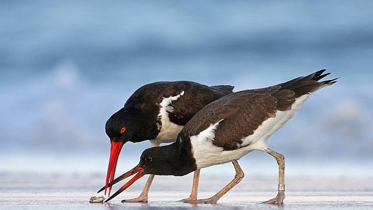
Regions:
[[[110,117],[106,123],[106,133],[115,141],[154,139],[159,133],[158,125],[162,125],[158,114],[163,98],[184,91],[182,97],[172,101],[173,112],[169,112],[171,122],[184,126],[200,109],[232,93],[232,90],[233,86],[230,85],[209,87],[191,81],[163,81],[144,85],[128,98],[122,109]],[[126,140],[118,134],[122,126],[127,126],[127,132],[123,134]]]

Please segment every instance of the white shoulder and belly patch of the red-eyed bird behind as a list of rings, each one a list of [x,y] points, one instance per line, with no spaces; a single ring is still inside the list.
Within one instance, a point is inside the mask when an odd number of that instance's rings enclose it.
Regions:
[[[183,95],[184,91],[182,91],[179,95],[170,95],[168,98],[163,98],[162,102],[159,104],[161,107],[159,108],[158,116],[161,118],[162,125],[160,126],[159,134],[154,141],[173,142],[176,140],[176,137],[181,129],[184,128],[184,126],[176,125],[175,123],[171,122],[168,117],[168,113],[173,112],[173,107],[171,106],[172,101],[178,100],[178,98]]]

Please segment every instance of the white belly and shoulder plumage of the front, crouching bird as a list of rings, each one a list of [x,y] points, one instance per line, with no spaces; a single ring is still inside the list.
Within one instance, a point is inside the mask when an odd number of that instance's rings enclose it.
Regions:
[[[237,150],[224,151],[223,148],[213,145],[215,130],[221,120],[200,134],[190,137],[197,169],[238,160],[253,150],[264,151],[267,148],[266,140],[298,112],[308,96],[299,97],[291,110],[277,111],[275,117],[264,121],[252,135],[242,138],[242,144],[238,145],[242,148]]]

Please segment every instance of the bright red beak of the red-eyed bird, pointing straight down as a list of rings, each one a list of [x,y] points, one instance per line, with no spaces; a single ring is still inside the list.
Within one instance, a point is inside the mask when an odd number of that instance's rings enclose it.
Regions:
[[[109,181],[113,181],[114,175],[115,175],[115,169],[116,169],[116,164],[118,162],[118,157],[120,150],[122,150],[123,142],[115,142],[111,141],[112,145],[110,148],[110,160],[109,160],[109,166],[107,167],[107,174],[106,174],[106,183],[105,183],[105,195],[106,195],[106,189],[109,186]],[[110,196],[110,191],[112,190],[112,187],[110,185],[109,188],[109,196]]]

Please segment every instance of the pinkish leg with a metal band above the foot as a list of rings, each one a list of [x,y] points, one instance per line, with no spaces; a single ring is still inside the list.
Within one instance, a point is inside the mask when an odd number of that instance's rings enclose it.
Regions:
[[[267,148],[264,151],[274,157],[279,165],[279,184],[277,196],[270,200],[264,201],[263,203],[283,204],[283,200],[285,199],[285,157],[280,153],[276,153],[270,148]]]

